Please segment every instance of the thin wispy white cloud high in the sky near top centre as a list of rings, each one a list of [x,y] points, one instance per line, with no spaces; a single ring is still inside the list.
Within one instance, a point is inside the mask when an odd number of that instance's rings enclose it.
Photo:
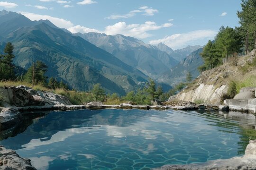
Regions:
[[[113,14],[113,15],[110,15],[109,17],[105,17],[105,19],[130,18],[130,17],[134,17],[137,13],[144,13],[142,15],[146,15],[146,16],[154,16],[156,12],[158,12],[157,9],[148,8],[147,6],[140,6],[138,9],[132,10],[127,14],[124,14],[124,15]]]

